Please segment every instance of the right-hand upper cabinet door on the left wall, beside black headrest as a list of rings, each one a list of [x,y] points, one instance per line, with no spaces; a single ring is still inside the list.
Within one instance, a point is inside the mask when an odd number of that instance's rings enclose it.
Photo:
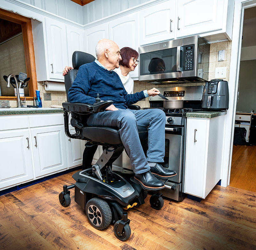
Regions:
[[[68,66],[72,66],[74,51],[84,51],[84,30],[67,25]]]

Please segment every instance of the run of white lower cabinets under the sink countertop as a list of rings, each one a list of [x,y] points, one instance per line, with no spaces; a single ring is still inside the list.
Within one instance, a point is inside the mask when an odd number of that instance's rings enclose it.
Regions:
[[[0,191],[82,165],[85,141],[68,139],[63,113],[0,115]]]

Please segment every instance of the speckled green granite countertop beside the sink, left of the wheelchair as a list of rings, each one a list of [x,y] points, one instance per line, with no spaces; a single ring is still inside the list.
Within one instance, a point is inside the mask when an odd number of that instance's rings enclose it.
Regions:
[[[0,108],[0,115],[63,113],[62,108]]]

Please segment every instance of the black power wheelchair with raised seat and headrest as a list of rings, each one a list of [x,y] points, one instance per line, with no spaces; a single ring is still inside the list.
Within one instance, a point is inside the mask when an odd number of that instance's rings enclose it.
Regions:
[[[76,78],[78,68],[94,61],[95,58],[85,52],[75,51],[72,56],[73,68],[65,75],[65,88],[68,90]],[[133,181],[133,172],[113,172],[112,163],[124,150],[118,128],[113,127],[90,127],[86,124],[87,117],[95,112],[103,112],[112,101],[100,101],[99,96],[95,103],[62,103],[64,110],[65,133],[70,138],[85,140],[85,147],[103,146],[103,153],[92,167],[80,170],[73,174],[76,183],[70,186],[64,185],[59,194],[60,204],[67,207],[70,204],[70,189],[75,188],[75,201],[81,206],[88,217],[89,223],[98,230],[103,230],[114,223],[114,233],[119,240],[126,240],[131,235],[130,220],[127,212],[133,206],[144,203],[148,192]],[[129,105],[131,109],[140,109],[139,106]],[[70,134],[68,116],[71,115],[70,123],[76,133]],[[138,126],[141,142],[147,145],[148,128]],[[144,149],[146,152],[146,149]],[[90,162],[91,164],[91,162]],[[164,205],[161,190],[155,191],[150,197],[150,205],[159,210]]]

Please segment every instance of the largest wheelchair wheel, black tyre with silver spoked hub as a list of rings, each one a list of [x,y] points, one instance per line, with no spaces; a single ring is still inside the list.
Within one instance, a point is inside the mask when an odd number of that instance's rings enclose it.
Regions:
[[[108,203],[103,199],[90,199],[86,204],[85,211],[91,225],[98,230],[107,228],[111,223],[111,209]]]

